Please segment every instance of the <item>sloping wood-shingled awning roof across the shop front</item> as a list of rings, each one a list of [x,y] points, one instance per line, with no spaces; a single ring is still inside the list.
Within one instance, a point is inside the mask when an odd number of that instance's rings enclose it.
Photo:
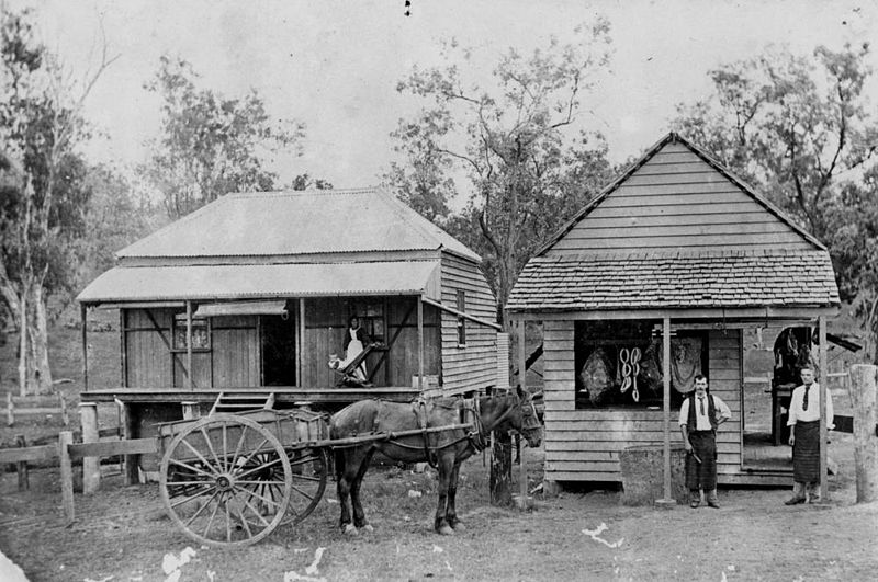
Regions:
[[[589,253],[531,259],[509,310],[837,306],[825,251]]]

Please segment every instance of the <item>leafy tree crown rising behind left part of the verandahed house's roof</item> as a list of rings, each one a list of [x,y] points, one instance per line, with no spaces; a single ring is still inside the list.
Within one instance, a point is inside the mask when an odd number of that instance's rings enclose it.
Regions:
[[[266,157],[299,152],[304,125],[273,123],[256,91],[227,99],[199,89],[198,75],[182,59],[162,56],[146,89],[164,104],[160,139],[140,173],[164,195],[168,216],[179,218],[230,192],[274,189],[277,174]]]

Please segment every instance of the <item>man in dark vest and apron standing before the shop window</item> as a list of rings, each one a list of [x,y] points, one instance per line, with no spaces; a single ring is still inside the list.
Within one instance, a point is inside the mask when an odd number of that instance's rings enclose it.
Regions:
[[[679,430],[686,447],[686,487],[689,505],[701,504],[701,491],[707,504],[719,509],[717,499],[717,426],[732,418],[729,407],[718,397],[707,393],[707,378],[695,377],[695,395],[686,398],[679,409]]]

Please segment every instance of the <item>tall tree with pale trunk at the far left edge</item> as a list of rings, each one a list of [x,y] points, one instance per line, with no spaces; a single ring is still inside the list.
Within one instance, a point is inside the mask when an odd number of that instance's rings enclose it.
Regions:
[[[52,293],[70,293],[71,242],[85,231],[90,196],[76,151],[88,137],[80,111],[112,62],[103,50],[77,89],[37,42],[30,16],[0,7],[0,296],[20,331],[22,395],[52,387],[46,304]]]

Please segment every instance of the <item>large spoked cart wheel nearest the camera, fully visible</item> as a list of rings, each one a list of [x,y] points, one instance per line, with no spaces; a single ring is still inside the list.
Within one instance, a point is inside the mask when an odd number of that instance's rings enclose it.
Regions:
[[[290,459],[278,438],[234,414],[188,426],[171,441],[160,470],[161,501],[171,520],[211,546],[247,546],[268,536],[283,521],[293,491]]]

